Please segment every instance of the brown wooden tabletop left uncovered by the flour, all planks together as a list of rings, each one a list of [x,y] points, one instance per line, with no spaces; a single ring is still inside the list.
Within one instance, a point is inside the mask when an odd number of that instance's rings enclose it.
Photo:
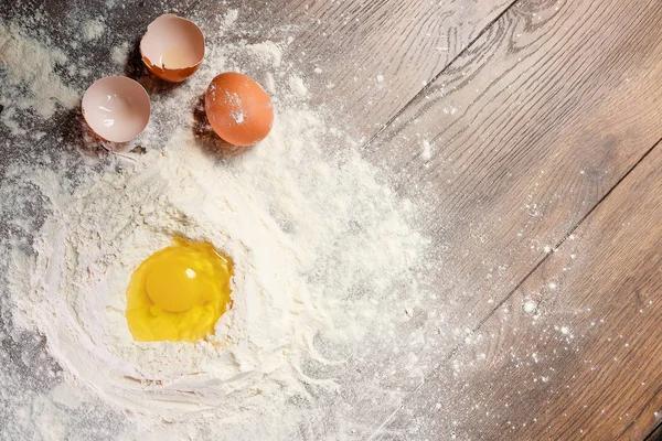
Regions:
[[[655,438],[662,2],[164,0],[129,7],[117,37],[233,8],[228,39],[292,24],[314,100],[343,106],[364,154],[434,213],[444,318],[405,325],[425,336],[421,378],[393,408],[359,400],[355,438]],[[442,319],[459,331],[438,335]]]

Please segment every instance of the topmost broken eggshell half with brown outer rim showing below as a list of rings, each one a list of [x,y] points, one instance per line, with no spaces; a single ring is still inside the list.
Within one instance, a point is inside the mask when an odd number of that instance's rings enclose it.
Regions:
[[[204,35],[191,20],[164,14],[147,26],[140,55],[149,72],[159,78],[183,82],[202,64]]]

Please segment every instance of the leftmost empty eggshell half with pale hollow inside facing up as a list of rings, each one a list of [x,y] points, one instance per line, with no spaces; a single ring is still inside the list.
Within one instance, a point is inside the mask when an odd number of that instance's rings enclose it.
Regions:
[[[149,96],[138,82],[126,76],[107,76],[94,82],[85,92],[81,107],[89,128],[113,142],[130,141],[149,122]]]

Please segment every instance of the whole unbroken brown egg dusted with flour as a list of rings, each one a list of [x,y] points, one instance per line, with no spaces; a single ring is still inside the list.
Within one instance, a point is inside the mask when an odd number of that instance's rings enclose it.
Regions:
[[[204,110],[216,135],[235,146],[261,141],[274,123],[269,95],[253,78],[234,72],[212,79]]]

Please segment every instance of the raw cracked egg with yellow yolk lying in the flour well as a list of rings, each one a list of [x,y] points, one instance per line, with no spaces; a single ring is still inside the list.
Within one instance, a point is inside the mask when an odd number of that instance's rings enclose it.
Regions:
[[[127,322],[138,342],[195,342],[229,308],[232,261],[212,244],[177,238],[134,271]]]

